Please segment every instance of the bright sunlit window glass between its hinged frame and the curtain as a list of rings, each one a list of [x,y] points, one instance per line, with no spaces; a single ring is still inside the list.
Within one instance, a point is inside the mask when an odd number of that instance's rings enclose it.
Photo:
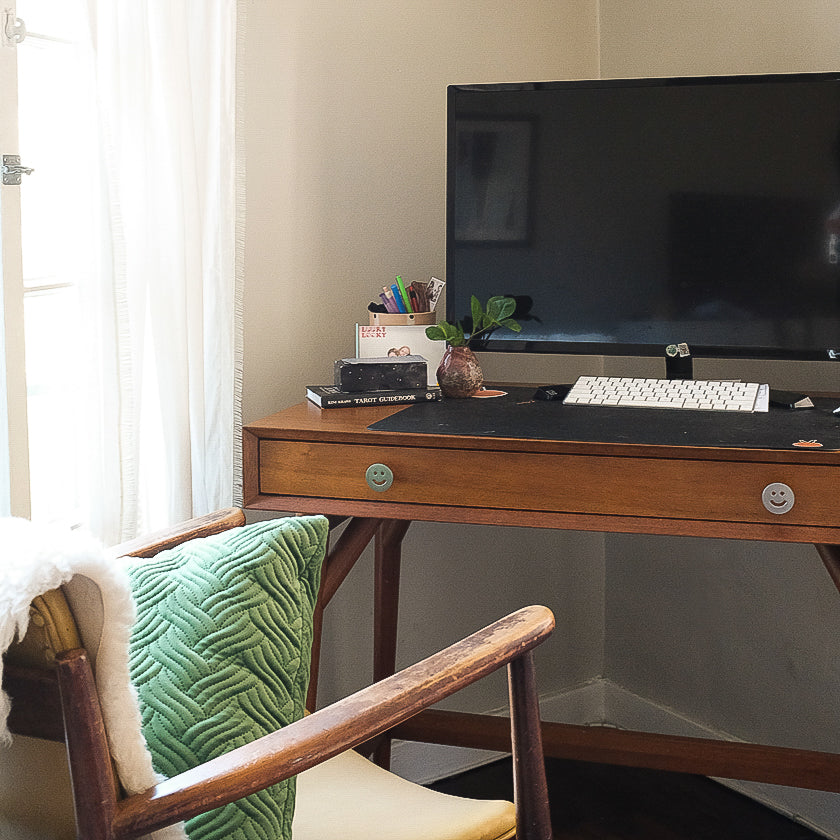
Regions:
[[[89,63],[77,43],[77,0],[21,2],[18,47],[29,471],[32,518],[84,521],[81,409],[86,369],[80,292],[96,253],[96,120]]]

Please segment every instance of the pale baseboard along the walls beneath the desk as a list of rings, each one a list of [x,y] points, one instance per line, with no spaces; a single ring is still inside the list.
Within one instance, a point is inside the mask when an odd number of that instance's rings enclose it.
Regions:
[[[540,698],[540,710],[544,720],[563,723],[608,725],[666,735],[737,740],[603,679],[543,696]],[[494,709],[488,714],[504,715],[507,710]],[[392,767],[401,776],[419,784],[429,784],[488,764],[502,755],[489,750],[397,741],[392,752]],[[716,781],[830,840],[840,840],[840,795],[731,779]]]

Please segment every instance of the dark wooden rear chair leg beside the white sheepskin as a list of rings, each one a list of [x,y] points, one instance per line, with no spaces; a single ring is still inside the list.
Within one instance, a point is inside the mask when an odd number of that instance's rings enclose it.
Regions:
[[[79,649],[61,654],[56,659],[56,672],[77,835],[84,840],[113,840],[116,779],[87,653]]]

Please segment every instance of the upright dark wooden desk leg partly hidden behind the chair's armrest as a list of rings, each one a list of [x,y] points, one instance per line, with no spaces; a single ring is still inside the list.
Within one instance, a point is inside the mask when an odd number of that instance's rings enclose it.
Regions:
[[[397,620],[400,603],[402,540],[410,521],[383,522],[376,532],[373,601],[373,680],[390,677],[397,666]],[[383,738],[373,752],[380,767],[391,765],[391,739]]]

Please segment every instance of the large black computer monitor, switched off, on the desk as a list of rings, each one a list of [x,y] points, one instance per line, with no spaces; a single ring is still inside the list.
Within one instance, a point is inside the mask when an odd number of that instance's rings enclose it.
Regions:
[[[840,73],[453,85],[447,320],[483,349],[840,353]]]

